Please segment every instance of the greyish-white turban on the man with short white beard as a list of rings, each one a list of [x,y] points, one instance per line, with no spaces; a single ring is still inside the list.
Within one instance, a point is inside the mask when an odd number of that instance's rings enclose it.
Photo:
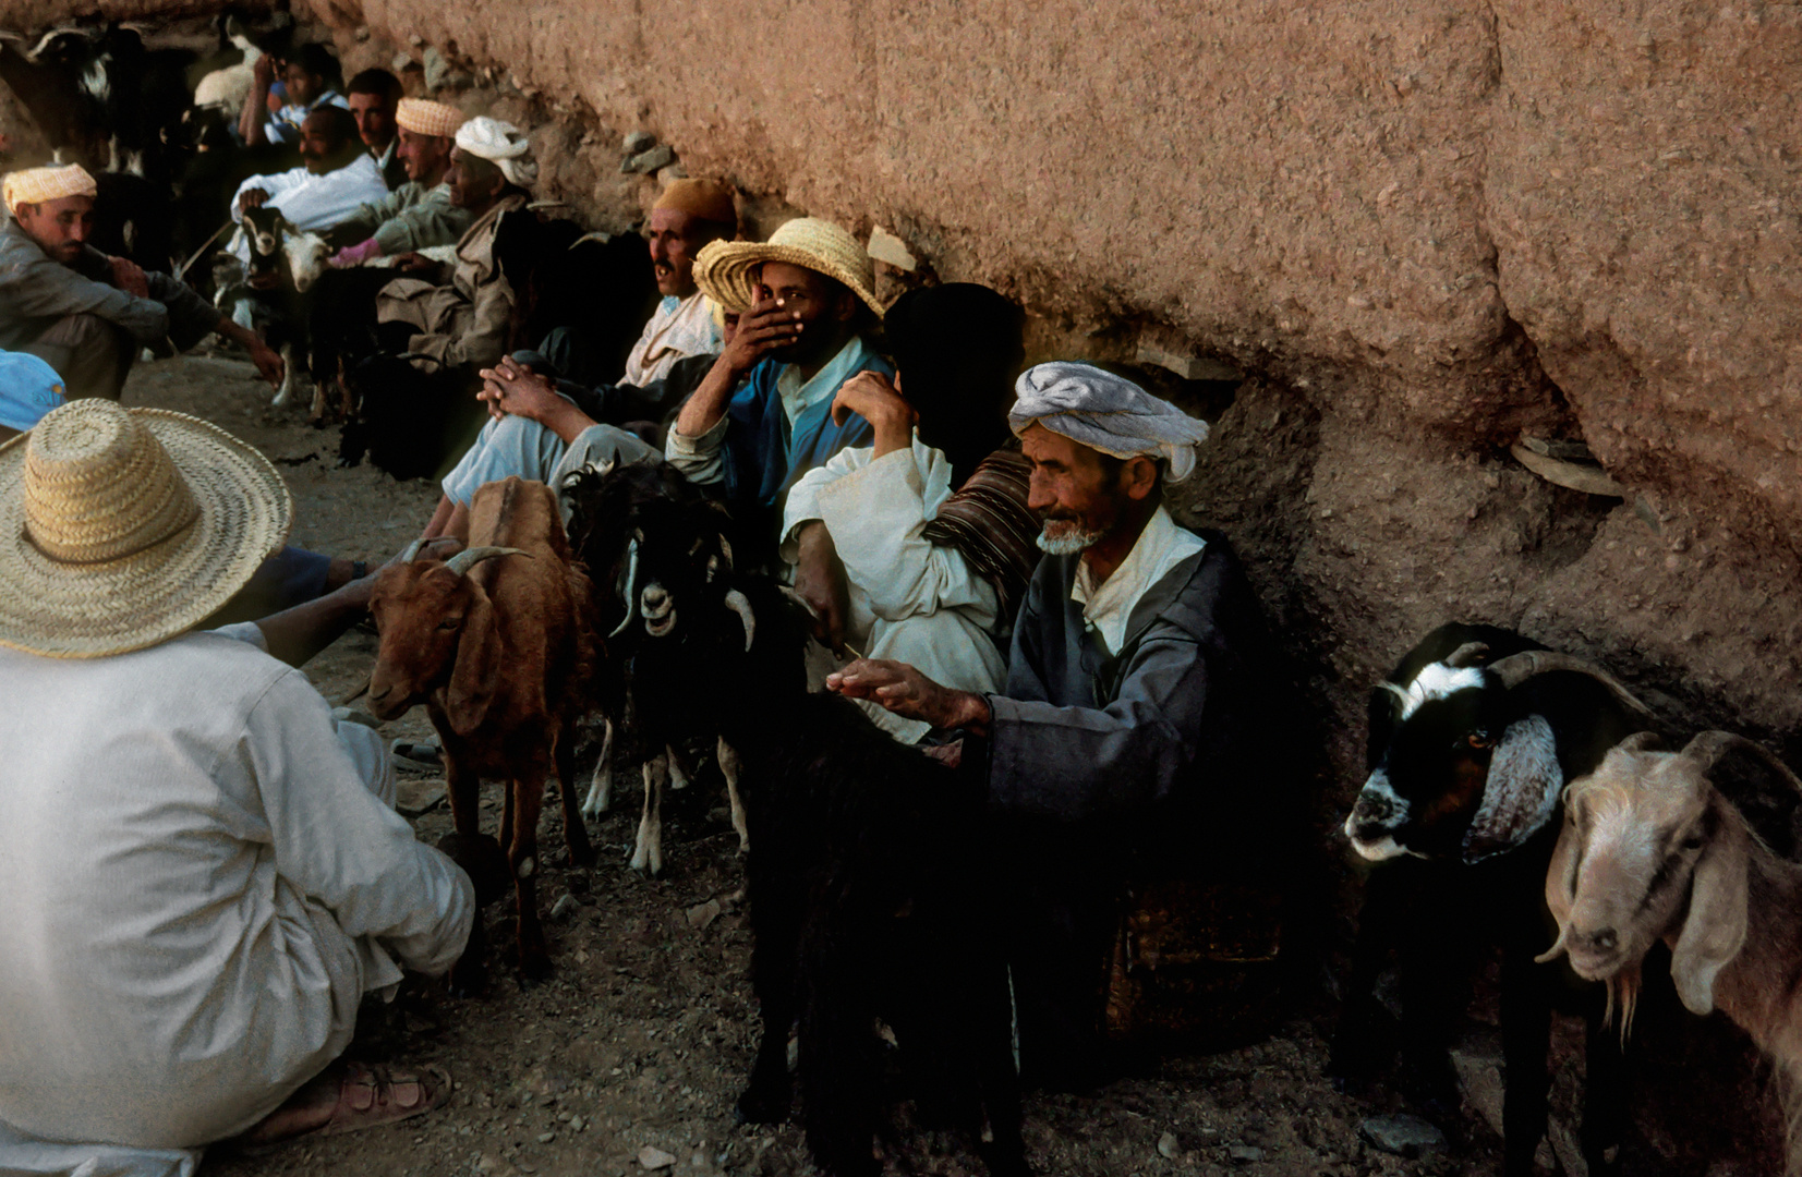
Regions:
[[[1195,470],[1195,447],[1207,440],[1207,422],[1094,364],[1027,368],[1015,397],[1007,411],[1015,436],[1036,422],[1115,458],[1159,454],[1169,461],[1166,478],[1173,483]]]

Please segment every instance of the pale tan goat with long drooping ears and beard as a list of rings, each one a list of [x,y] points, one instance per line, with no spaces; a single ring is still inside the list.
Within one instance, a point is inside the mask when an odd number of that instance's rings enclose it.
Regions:
[[[1541,961],[1562,952],[1579,975],[1607,981],[1625,1033],[1640,964],[1665,941],[1683,1004],[1697,1015],[1719,1006],[1788,1078],[1788,1172],[1798,1175],[1802,865],[1770,849],[1723,784],[1748,768],[1764,791],[1802,791],[1802,780],[1728,732],[1703,732],[1683,752],[1654,744],[1651,734],[1627,739],[1566,791],[1546,872],[1559,939]]]

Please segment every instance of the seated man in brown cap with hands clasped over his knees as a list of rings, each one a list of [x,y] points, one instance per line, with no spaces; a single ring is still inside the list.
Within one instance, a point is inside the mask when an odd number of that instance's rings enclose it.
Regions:
[[[694,258],[710,242],[730,240],[737,216],[732,189],[714,180],[676,180],[651,207],[651,265],[663,301],[633,344],[620,384],[595,389],[553,384],[533,371],[541,364],[532,362],[539,357],[530,353],[483,370],[481,397],[490,404],[492,420],[445,476],[445,497],[427,535],[461,535],[469,497],[483,483],[517,474],[555,487],[553,470],[591,429],[596,433],[587,436],[575,465],[638,456],[629,440],[614,445],[618,425],[661,422],[694,391],[723,346],[715,306],[694,285]]]

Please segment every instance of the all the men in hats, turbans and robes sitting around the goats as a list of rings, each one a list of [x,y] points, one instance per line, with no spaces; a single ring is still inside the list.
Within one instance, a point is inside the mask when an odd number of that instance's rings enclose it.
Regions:
[[[1258,694],[1243,575],[1164,505],[1207,425],[1090,364],[1022,371],[1024,314],[986,287],[885,305],[833,222],[739,240],[733,191],[703,178],[649,211],[661,301],[622,377],[569,380],[578,339],[506,351],[492,247],[537,186],[530,139],[380,70],[341,99],[332,72],[303,50],[270,103],[259,68],[245,150],[297,164],[238,184],[231,214],[328,234],[341,335],[373,324],[479,382],[490,420],[423,537],[465,541],[487,481],[605,460],[715,496],[813,611],[824,689],[986,788],[1022,1067],[1092,1081],[1119,881],[1193,865],[1173,815],[1238,788]],[[204,422],[117,404],[146,346],[216,332],[270,380],[281,359],[88,247],[79,168],[4,186],[0,427],[23,436],[0,449],[0,1170],[180,1172],[225,1137],[427,1110],[441,1072],[333,1062],[359,1000],[443,973],[478,917],[469,876],[395,815],[389,750],[294,669],[371,577],[321,573],[220,627],[283,577],[281,479]],[[416,256],[443,245],[449,265]]]

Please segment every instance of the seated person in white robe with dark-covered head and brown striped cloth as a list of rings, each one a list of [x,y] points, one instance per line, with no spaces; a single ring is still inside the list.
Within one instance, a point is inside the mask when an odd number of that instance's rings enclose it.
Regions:
[[[802,474],[782,516],[782,557],[834,651],[849,643],[959,690],[1002,689],[1038,564],[1027,463],[1007,434],[1022,324],[987,287],[908,290],[883,319],[894,384],[865,371],[838,389],[833,411],[863,416],[876,443]],[[903,743],[932,730],[860,703]]]

